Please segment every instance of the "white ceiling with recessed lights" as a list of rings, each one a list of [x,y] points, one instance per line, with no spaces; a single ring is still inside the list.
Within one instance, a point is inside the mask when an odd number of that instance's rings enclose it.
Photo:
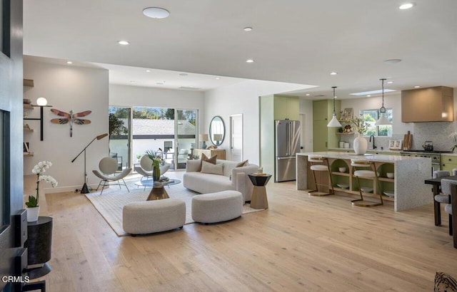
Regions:
[[[110,83],[159,88],[207,90],[247,78],[316,85],[294,93],[316,99],[331,98],[332,86],[341,98],[379,90],[380,78],[393,90],[457,87],[457,1],[402,3],[24,0],[24,54],[98,63]],[[171,15],[149,19],[142,10],[151,6]],[[402,61],[384,62],[394,58]]]

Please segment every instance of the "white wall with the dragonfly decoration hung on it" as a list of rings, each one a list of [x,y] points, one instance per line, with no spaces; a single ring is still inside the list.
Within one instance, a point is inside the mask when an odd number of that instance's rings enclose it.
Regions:
[[[48,63],[46,63],[48,62]],[[64,62],[62,62],[64,63]],[[36,98],[44,97],[52,108],[69,113],[91,110],[85,118],[89,125],[74,125],[73,137],[70,126],[51,123],[58,118],[51,108],[44,108],[44,141],[40,141],[39,121],[26,120],[34,132],[24,133],[24,141],[29,141],[33,157],[24,157],[24,174],[31,174],[37,162],[49,160],[53,166],[46,172],[57,179],[58,187],[43,184],[46,192],[64,192],[84,184],[84,154],[71,163],[71,160],[97,135],[108,132],[108,71],[95,68],[49,63],[46,59],[24,58],[24,78],[33,79],[33,88],[24,88],[24,98],[36,103]],[[39,108],[25,110],[29,118],[39,117]],[[108,139],[95,140],[86,150],[86,170],[89,184],[98,184],[92,170],[98,169],[99,160],[108,155]],[[47,189],[49,188],[49,189]]]

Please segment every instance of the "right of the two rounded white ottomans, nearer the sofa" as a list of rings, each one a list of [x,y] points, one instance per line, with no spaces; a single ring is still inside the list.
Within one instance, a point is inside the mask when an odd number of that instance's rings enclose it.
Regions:
[[[223,191],[200,194],[192,198],[192,219],[215,223],[235,219],[243,214],[243,194]]]

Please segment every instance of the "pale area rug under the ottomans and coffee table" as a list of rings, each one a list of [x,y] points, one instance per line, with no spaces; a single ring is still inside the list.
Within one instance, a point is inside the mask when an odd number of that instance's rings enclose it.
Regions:
[[[86,197],[91,201],[95,209],[104,217],[118,236],[127,235],[122,228],[122,209],[124,205],[131,202],[146,201],[149,192],[151,192],[151,187],[146,187],[146,190],[144,190],[143,187],[137,187],[131,182],[127,182],[127,185],[130,192],[127,192],[125,187],[119,189],[117,186],[112,186],[109,189],[105,189],[102,194],[101,192],[86,194]],[[182,199],[186,202],[186,224],[194,223],[195,221],[192,220],[191,216],[191,202],[192,197],[198,196],[199,193],[186,189],[182,183],[166,187],[166,192],[169,194],[169,197]],[[243,206],[243,214],[263,210],[253,209],[249,207],[249,204],[244,204]]]

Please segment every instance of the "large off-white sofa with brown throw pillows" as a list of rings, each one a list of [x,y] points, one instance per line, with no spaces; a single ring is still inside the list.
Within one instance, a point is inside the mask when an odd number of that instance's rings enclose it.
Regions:
[[[239,162],[216,161],[218,165],[221,163],[224,164],[223,175],[199,172],[201,160],[188,160],[183,175],[184,187],[201,194],[234,190],[243,194],[243,202],[250,201],[253,185],[248,174],[257,172],[258,165],[236,167]]]

